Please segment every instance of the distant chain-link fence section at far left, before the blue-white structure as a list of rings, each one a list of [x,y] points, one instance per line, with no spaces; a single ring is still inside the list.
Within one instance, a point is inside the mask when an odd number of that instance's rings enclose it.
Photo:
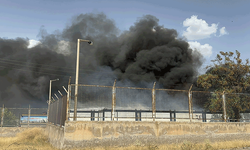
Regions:
[[[46,126],[47,108],[0,107],[1,127]]]

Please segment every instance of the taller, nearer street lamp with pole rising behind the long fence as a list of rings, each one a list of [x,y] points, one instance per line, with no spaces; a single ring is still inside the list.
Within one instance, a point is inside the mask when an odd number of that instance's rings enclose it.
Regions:
[[[87,42],[89,45],[93,45],[93,42],[90,41],[90,40],[77,39],[74,121],[76,121],[76,116],[77,116],[77,95],[78,95],[78,76],[79,76],[79,53],[80,53],[80,42]]]

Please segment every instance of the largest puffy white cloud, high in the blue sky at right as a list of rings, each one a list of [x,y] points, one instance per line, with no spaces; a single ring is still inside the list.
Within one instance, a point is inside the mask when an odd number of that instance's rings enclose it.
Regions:
[[[184,20],[183,26],[187,27],[187,30],[184,31],[183,36],[185,36],[188,40],[209,38],[210,35],[217,32],[218,28],[218,24],[213,23],[211,26],[209,26],[205,20],[198,19],[195,15]]]

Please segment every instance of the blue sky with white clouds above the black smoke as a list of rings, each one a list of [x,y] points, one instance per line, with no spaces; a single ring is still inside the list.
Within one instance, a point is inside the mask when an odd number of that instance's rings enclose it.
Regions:
[[[153,15],[165,28],[176,29],[206,58],[219,51],[250,54],[250,1],[246,0],[0,0],[0,37],[38,40],[47,32],[63,30],[78,14],[105,13],[122,31],[143,15]],[[221,32],[220,32],[221,31]]]

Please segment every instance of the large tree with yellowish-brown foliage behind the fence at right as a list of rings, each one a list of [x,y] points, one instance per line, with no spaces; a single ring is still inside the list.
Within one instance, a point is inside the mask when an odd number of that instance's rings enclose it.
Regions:
[[[208,66],[206,74],[198,77],[197,84],[214,92],[205,104],[205,108],[211,112],[222,111],[222,93],[225,91],[227,117],[239,121],[240,112],[250,108],[250,95],[245,93],[250,86],[250,69],[248,59],[242,63],[237,50],[236,57],[233,55],[233,52],[222,51],[217,54],[216,59],[212,60],[214,65]]]

